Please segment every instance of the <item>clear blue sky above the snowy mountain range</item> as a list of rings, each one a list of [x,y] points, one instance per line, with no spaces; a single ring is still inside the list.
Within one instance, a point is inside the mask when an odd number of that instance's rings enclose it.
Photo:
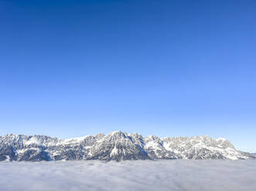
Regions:
[[[256,1],[0,0],[0,136],[118,129],[256,152]]]

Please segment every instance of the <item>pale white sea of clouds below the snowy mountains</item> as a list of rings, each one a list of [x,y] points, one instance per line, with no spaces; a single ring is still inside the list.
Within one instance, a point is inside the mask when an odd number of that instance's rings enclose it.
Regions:
[[[256,190],[256,160],[2,162],[2,191]]]

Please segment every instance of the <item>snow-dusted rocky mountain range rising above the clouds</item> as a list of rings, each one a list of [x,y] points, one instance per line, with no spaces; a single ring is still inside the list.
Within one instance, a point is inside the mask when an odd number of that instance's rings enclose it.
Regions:
[[[50,160],[137,160],[137,159],[256,159],[237,151],[227,139],[209,136],[142,137],[133,132],[57,139],[49,136],[0,137],[0,161]]]

